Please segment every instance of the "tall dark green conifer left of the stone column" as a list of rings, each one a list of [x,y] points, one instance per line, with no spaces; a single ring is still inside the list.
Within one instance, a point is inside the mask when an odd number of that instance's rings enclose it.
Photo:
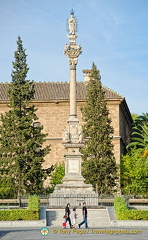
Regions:
[[[43,126],[34,127],[38,119],[37,109],[31,103],[35,90],[33,81],[26,80],[29,70],[26,57],[18,37],[8,89],[10,110],[1,115],[0,126],[0,177],[11,182],[16,195],[41,192],[46,178],[42,164],[50,151],[50,146],[42,147],[46,136]]]

